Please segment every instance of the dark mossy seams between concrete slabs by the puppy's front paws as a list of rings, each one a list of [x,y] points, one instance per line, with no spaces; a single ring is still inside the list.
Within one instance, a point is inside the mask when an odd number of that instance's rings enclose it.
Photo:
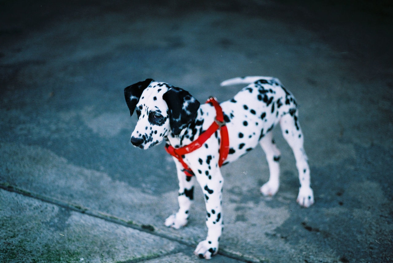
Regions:
[[[38,200],[43,201],[45,203],[51,203],[53,205],[57,205],[57,206],[61,206],[63,208],[67,208],[67,209],[70,209],[72,211],[79,212],[81,214],[86,214],[88,216],[97,217],[99,219],[103,219],[103,220],[111,222],[111,223],[115,223],[115,224],[118,224],[118,225],[123,225],[123,226],[129,227],[129,228],[133,228],[135,230],[139,230],[141,232],[145,232],[145,233],[148,233],[148,234],[151,234],[151,235],[154,235],[154,236],[162,237],[162,238],[165,238],[165,239],[168,239],[168,240],[180,243],[180,244],[185,245],[187,247],[194,248],[196,246],[195,243],[188,242],[188,241],[185,241],[185,240],[182,240],[182,239],[178,239],[176,237],[172,237],[172,236],[169,236],[169,235],[164,234],[164,233],[159,233],[159,232],[154,230],[154,226],[151,226],[151,225],[138,225],[138,224],[133,223],[133,222],[130,223],[130,222],[127,222],[125,220],[119,219],[118,217],[115,217],[115,216],[111,216],[111,215],[104,214],[104,213],[101,213],[101,212],[97,212],[97,211],[94,211],[94,210],[89,210],[88,208],[85,208],[85,207],[80,206],[80,205],[75,205],[75,204],[72,204],[72,203],[68,203],[66,201],[55,199],[53,197],[48,197],[46,195],[40,195],[40,194],[37,194],[37,193],[33,193],[33,192],[24,190],[24,189],[19,188],[17,186],[13,186],[12,184],[9,184],[9,183],[3,182],[3,181],[0,181],[0,188],[3,189],[3,190],[6,190],[8,192],[14,192],[14,193],[17,193],[17,194],[21,194],[21,195],[24,195],[24,196],[27,196],[27,197],[38,199]],[[124,261],[124,262],[121,261],[120,263],[136,263],[136,262],[146,261],[146,260],[150,260],[150,259],[154,259],[154,258],[161,258],[163,256],[168,256],[169,254],[174,254],[174,253],[178,253],[178,252],[181,252],[181,251],[183,251],[183,250],[179,250],[177,252],[176,251],[171,251],[171,252],[169,252],[169,253],[167,253],[165,255],[160,255],[160,256],[153,257],[153,258],[149,258],[149,259],[147,259],[147,258],[132,259],[130,261]],[[246,263],[261,263],[261,262],[265,261],[265,259],[263,259],[263,260],[256,259],[256,258],[254,258],[252,256],[242,255],[242,254],[238,254],[236,252],[230,252],[230,251],[228,251],[226,249],[223,249],[223,248],[219,249],[218,254],[220,254],[221,256],[224,256],[226,258],[232,258],[232,259],[236,259],[238,261],[242,261],[242,262],[246,262]]]

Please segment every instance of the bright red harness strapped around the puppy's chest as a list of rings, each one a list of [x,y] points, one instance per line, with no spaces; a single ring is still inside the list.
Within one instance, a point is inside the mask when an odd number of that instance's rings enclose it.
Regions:
[[[213,97],[209,98],[206,101],[206,103],[213,104],[214,108],[216,109],[216,118],[214,122],[210,125],[208,130],[204,131],[201,135],[199,135],[198,139],[196,139],[195,141],[191,142],[186,146],[180,148],[174,148],[169,144],[165,145],[165,150],[167,150],[167,152],[173,157],[176,157],[176,159],[178,159],[179,162],[183,165],[184,168],[183,172],[187,176],[193,176],[195,174],[188,167],[188,165],[184,163],[183,161],[184,155],[200,148],[204,144],[204,142],[206,142],[210,138],[210,136],[213,135],[213,133],[215,133],[217,130],[220,130],[220,134],[221,134],[220,159],[219,159],[220,167],[222,166],[222,163],[224,163],[226,157],[228,156],[228,152],[229,152],[228,129],[225,126],[224,114],[222,113],[222,108],[220,107],[220,104],[217,102],[217,99]]]

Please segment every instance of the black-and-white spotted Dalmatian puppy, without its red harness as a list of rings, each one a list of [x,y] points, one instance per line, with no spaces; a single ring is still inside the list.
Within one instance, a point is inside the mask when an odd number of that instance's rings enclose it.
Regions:
[[[280,124],[298,168],[300,186],[296,201],[302,207],[309,207],[314,203],[314,194],[293,95],[273,77],[239,77],[221,83],[222,86],[234,84],[247,86],[233,99],[220,103],[229,136],[229,153],[224,164],[235,161],[257,144],[261,145],[266,153],[270,178],[260,190],[263,195],[274,195],[279,188],[280,151],[271,131]],[[135,111],[138,117],[131,143],[141,149],[162,141],[174,148],[190,144],[215,121],[216,110],[211,104],[200,104],[188,91],[164,82],[146,79],[128,86],[124,93],[130,115]],[[179,210],[165,220],[166,226],[176,229],[187,224],[196,180],[204,193],[208,234],[197,245],[194,254],[206,259],[218,252],[223,226],[224,179],[218,165],[220,136],[219,131],[215,132],[202,147],[182,156],[195,176],[185,175],[184,166],[173,158],[179,181]]]

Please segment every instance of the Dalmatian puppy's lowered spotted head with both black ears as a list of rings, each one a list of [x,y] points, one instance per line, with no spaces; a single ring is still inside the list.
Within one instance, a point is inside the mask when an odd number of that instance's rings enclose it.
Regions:
[[[162,142],[169,132],[179,135],[195,121],[200,105],[188,91],[152,79],[128,86],[124,96],[130,115],[135,111],[138,117],[131,142],[141,149]]]

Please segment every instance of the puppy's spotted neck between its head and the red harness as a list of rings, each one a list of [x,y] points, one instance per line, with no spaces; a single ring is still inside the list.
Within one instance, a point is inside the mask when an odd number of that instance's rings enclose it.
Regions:
[[[174,148],[190,144],[195,141],[199,135],[207,130],[214,122],[216,116],[215,108],[210,104],[202,104],[196,114],[196,118],[187,128],[184,128],[179,135],[174,135],[169,131],[166,141]]]

